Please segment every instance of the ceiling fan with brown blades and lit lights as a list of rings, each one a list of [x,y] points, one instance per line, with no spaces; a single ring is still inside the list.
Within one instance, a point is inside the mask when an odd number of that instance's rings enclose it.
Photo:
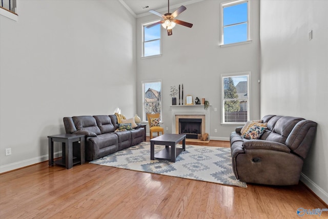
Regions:
[[[176,24],[179,25],[183,25],[186,27],[192,27],[193,24],[188,23],[188,22],[184,22],[184,21],[180,21],[178,19],[175,19],[175,17],[177,17],[181,12],[185,11],[187,8],[185,6],[180,6],[176,11],[174,11],[173,13],[170,13],[170,0],[168,0],[168,13],[166,14],[161,14],[157,11],[154,10],[150,10],[150,13],[153,13],[157,16],[160,16],[163,18],[162,21],[156,22],[154,24],[148,25],[147,28],[153,27],[155,25],[161,24],[163,28],[168,30],[168,35],[172,35],[172,28],[175,27]]]

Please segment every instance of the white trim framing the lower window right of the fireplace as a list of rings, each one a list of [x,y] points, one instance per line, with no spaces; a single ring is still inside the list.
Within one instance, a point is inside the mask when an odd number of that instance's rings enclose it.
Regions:
[[[224,122],[224,104],[223,104],[223,95],[224,95],[224,85],[223,85],[223,77],[229,76],[248,76],[248,111],[247,111],[247,121],[250,120],[250,112],[251,112],[251,71],[242,71],[242,72],[234,72],[234,73],[224,73],[221,74],[220,83],[221,83],[221,125],[244,125],[246,122],[234,122],[234,123],[225,123]]]

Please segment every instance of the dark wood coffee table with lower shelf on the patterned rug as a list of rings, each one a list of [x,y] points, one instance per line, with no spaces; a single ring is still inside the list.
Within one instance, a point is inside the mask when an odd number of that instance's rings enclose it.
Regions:
[[[176,148],[176,144],[182,141],[182,148]],[[165,145],[165,149],[155,154],[155,145]],[[171,146],[171,147],[170,147]],[[150,160],[156,158],[168,159],[175,162],[175,158],[186,150],[185,134],[163,134],[150,140]]]

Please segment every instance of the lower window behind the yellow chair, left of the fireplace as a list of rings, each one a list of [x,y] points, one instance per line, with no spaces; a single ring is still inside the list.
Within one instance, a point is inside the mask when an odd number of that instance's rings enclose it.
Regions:
[[[160,113],[160,121],[162,121],[161,84],[161,80],[142,82],[142,102],[144,103],[142,121],[148,121],[147,113]]]

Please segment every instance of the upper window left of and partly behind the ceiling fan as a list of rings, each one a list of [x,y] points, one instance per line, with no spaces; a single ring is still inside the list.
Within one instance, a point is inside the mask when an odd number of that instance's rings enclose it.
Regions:
[[[161,54],[161,50],[160,50],[161,26],[160,24],[158,24],[147,28],[147,26],[152,23],[142,25],[142,57]]]

